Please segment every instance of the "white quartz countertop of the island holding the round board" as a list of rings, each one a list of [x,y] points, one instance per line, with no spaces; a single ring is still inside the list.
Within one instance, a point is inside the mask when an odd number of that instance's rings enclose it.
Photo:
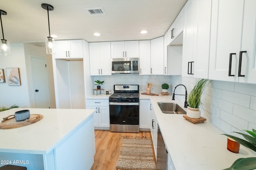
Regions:
[[[79,125],[93,117],[95,109],[15,108],[0,112],[0,120],[16,111],[29,109],[43,119],[15,129],[0,129],[0,152],[48,154]]]

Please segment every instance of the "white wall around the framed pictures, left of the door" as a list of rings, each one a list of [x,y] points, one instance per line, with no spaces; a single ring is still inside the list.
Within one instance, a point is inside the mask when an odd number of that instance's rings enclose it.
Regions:
[[[16,104],[19,107],[30,107],[24,45],[10,44],[10,49],[10,56],[0,56],[0,68],[4,69],[6,79],[6,68],[20,68],[21,86],[8,86],[7,81],[0,83],[0,106],[10,107]]]

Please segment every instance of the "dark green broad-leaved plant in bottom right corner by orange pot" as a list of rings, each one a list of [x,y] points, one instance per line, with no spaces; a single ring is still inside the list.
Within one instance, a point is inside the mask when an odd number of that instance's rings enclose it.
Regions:
[[[235,137],[233,135],[226,135],[227,137],[230,137],[237,142],[239,142],[241,145],[244,145],[245,147],[253,150],[256,152],[256,130],[252,129],[252,131],[244,130],[250,135],[247,135],[245,133],[240,132],[234,132],[242,135],[246,140],[240,139],[238,137]],[[256,168],[256,157],[250,157],[250,158],[239,158],[235,160],[235,162],[227,169],[224,170],[253,170]]]

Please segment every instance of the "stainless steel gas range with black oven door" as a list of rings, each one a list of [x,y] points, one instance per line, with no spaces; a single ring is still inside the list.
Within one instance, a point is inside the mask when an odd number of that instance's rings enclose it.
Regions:
[[[139,85],[114,85],[109,96],[111,132],[140,132],[139,95]]]

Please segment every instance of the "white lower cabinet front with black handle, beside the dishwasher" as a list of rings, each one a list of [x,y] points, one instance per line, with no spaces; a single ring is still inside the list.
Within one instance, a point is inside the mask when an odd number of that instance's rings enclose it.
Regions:
[[[155,115],[155,112],[154,112],[153,108],[151,108],[150,133],[151,133],[151,138],[152,138],[155,157],[156,157],[156,154],[157,154],[157,128],[158,128],[158,125],[157,125],[156,115]]]

